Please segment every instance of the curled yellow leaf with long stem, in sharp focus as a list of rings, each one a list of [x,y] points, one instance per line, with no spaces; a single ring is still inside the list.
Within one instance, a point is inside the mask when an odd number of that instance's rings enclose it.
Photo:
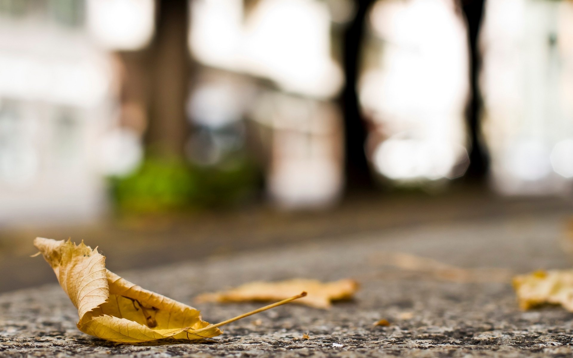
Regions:
[[[77,308],[77,328],[88,335],[139,343],[171,337],[201,340],[220,335],[219,326],[285,304],[305,293],[211,325],[199,311],[132,284],[105,269],[105,257],[68,241],[36,238],[34,246],[56,273],[60,286]]]

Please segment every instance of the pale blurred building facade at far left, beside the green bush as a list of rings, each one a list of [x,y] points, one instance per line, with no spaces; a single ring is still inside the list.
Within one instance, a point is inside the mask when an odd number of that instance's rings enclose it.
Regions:
[[[106,196],[112,64],[84,31],[83,2],[0,4],[0,223],[91,218]]]

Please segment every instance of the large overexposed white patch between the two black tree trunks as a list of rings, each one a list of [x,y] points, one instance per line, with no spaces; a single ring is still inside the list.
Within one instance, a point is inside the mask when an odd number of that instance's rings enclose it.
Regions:
[[[428,111],[463,111],[468,44],[453,1],[379,1],[370,22],[384,49],[375,66],[377,76],[364,78],[360,86],[364,105],[418,121]]]

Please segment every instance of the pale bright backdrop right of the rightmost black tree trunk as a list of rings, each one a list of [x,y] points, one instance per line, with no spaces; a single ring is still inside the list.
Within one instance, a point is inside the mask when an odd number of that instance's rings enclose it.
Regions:
[[[558,194],[573,177],[573,6],[486,0],[484,135],[502,194]],[[556,174],[559,175],[556,175]]]

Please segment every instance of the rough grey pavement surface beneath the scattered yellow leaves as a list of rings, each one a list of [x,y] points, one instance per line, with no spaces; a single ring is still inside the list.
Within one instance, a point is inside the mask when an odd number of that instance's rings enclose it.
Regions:
[[[509,284],[405,275],[376,257],[379,251],[404,251],[462,267],[508,267],[516,273],[568,267],[569,258],[559,246],[565,218],[520,215],[411,226],[119,272],[144,288],[191,305],[199,293],[252,280],[354,277],[362,283],[354,301],[340,302],[332,310],[285,305],[234,322],[223,335],[194,344],[123,345],[84,335],[75,326],[77,311],[57,285],[5,293],[0,295],[0,356],[571,356],[573,314],[557,307],[521,312]],[[45,270],[50,270],[47,263]],[[260,305],[194,306],[207,321],[217,322]],[[380,318],[390,325],[374,326]],[[304,333],[309,339],[303,339]]]

